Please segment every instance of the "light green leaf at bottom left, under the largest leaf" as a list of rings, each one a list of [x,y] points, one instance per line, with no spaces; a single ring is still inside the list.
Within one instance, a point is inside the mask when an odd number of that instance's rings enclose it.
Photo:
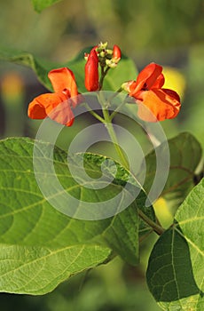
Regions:
[[[43,295],[71,275],[103,263],[111,250],[78,244],[59,249],[0,244],[0,291]]]

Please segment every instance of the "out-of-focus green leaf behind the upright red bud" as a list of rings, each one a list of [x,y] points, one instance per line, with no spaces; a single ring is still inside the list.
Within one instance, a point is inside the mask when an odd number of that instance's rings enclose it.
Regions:
[[[32,68],[40,81],[48,90],[52,91],[51,82],[48,79],[48,72],[53,68],[67,67],[73,70],[79,92],[87,92],[84,86],[84,52],[90,52],[91,47],[87,47],[80,52],[74,60],[64,63],[54,63],[41,60],[28,52],[18,52],[11,49],[0,49],[0,60],[12,61]],[[132,60],[122,55],[117,68],[110,69],[106,78],[103,90],[116,92],[124,81],[135,79],[137,71]]]

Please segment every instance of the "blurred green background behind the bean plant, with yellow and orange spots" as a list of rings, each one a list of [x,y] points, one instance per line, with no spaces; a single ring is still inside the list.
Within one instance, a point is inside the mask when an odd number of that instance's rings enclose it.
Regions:
[[[118,44],[138,69],[151,61],[166,67],[168,84],[182,94],[182,110],[176,120],[161,124],[168,138],[189,131],[204,147],[203,0],[64,0],[41,14],[29,0],[0,0],[0,4],[2,46],[63,62],[85,46],[108,41],[110,47]],[[0,87],[0,137],[35,137],[39,122],[27,118],[27,105],[46,91],[35,74],[1,62]],[[155,238],[142,244],[139,267],[114,259],[43,297],[1,293],[1,310],[159,310],[145,284],[145,267]]]

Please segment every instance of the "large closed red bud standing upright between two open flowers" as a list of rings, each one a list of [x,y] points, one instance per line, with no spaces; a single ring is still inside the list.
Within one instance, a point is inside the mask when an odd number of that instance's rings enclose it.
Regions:
[[[98,91],[98,54],[96,47],[90,51],[90,55],[85,65],[85,87],[87,91]]]

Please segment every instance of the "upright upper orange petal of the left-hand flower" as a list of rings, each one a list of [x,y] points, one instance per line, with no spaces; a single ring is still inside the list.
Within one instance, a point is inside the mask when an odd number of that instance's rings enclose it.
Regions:
[[[68,90],[70,97],[78,95],[77,86],[75,83],[75,75],[72,70],[68,68],[53,69],[48,74],[54,92],[63,92]]]

